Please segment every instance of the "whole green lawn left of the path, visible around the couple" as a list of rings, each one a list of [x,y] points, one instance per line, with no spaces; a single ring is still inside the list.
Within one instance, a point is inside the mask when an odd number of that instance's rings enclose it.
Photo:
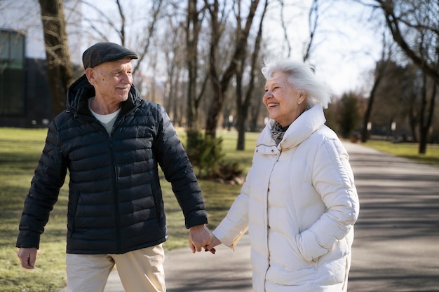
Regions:
[[[45,129],[0,128],[0,287],[2,292],[50,292],[65,286],[65,232],[67,224],[67,184],[62,188],[50,214],[34,270],[20,266],[15,240],[23,202],[46,138]],[[182,141],[184,132],[179,131]],[[257,134],[246,135],[245,151],[235,151],[236,132],[220,132],[224,138],[225,160],[238,160],[250,167]],[[215,228],[229,210],[241,186],[200,181],[205,197],[210,229]],[[166,250],[188,246],[188,231],[170,184],[162,182],[166,204],[169,240]]]

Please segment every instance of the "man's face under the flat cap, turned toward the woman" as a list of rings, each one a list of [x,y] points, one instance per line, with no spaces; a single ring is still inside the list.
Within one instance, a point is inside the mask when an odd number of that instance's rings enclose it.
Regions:
[[[95,87],[96,98],[108,104],[119,104],[128,99],[133,84],[131,59],[126,57],[114,62],[104,62],[88,68],[88,81]]]

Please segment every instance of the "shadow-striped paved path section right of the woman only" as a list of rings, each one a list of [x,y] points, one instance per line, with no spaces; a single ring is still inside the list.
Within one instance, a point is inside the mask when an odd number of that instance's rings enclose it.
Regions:
[[[346,149],[360,196],[349,291],[439,291],[439,167]]]

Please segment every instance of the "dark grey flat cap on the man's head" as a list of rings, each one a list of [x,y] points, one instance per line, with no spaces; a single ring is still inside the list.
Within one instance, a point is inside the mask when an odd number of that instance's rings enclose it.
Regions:
[[[117,43],[95,43],[82,54],[82,63],[84,69],[87,69],[104,62],[121,60],[124,57],[130,57],[130,59],[138,58],[132,50],[128,50]]]

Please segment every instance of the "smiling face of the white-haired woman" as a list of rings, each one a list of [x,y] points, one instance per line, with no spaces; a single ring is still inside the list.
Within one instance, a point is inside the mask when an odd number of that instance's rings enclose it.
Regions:
[[[305,92],[297,90],[282,71],[274,71],[265,83],[263,102],[269,111],[269,118],[282,127],[290,125],[305,110],[305,98]]]

